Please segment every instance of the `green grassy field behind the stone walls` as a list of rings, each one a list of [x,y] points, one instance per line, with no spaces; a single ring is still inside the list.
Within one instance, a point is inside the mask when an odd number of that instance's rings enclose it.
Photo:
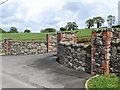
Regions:
[[[77,36],[87,36],[91,35],[91,31],[93,29],[79,29],[74,31],[67,32],[77,32]],[[54,34],[54,33],[2,33],[0,34],[0,40],[4,40],[6,38],[9,39],[45,39],[46,34]]]

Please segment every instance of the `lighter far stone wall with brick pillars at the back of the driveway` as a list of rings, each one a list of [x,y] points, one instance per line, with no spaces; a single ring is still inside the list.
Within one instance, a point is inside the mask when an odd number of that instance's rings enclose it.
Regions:
[[[58,42],[61,40],[69,43],[75,43],[75,33],[62,33],[62,38],[60,38],[59,41],[57,36],[57,34],[47,34],[46,42],[36,42],[34,41],[35,39],[32,39],[32,41],[5,39],[5,53],[6,55],[23,55],[56,52]]]

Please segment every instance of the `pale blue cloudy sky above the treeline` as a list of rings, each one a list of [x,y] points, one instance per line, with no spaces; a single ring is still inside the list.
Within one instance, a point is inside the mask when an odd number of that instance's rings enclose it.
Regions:
[[[0,2],[5,0],[0,0]],[[118,23],[119,0],[8,0],[0,5],[0,28],[9,31],[16,27],[19,32],[30,29],[40,32],[45,28],[64,27],[67,22],[76,22],[78,28],[86,27],[85,21],[108,15]],[[107,22],[104,26],[108,26]]]

